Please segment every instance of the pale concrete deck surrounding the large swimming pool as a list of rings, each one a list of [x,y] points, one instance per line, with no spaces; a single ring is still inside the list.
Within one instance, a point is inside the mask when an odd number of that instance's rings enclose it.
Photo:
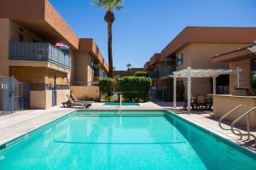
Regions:
[[[191,114],[188,114],[185,111],[181,110],[181,107],[177,109],[172,108],[172,103],[170,102],[147,102],[143,103],[140,106],[123,106],[123,110],[132,110],[132,111],[143,111],[143,110],[152,110],[152,111],[171,111],[177,116],[182,117],[183,119],[195,123],[196,125],[203,127],[209,130],[212,133],[216,133],[224,139],[228,139],[236,144],[240,144],[252,150],[256,153],[256,148],[253,147],[253,141],[247,140],[238,140],[238,137],[233,135],[230,131],[223,130],[218,127],[218,118],[212,116],[211,111],[192,111]],[[21,135],[31,132],[38,127],[42,127],[49,122],[53,122],[61,116],[65,116],[72,111],[80,110],[78,108],[61,108],[60,106],[55,106],[48,110],[27,110],[27,111],[18,111],[13,114],[0,116],[0,145],[9,142],[12,139],[15,139]],[[85,111],[97,111],[97,110],[117,110],[116,106],[104,106],[103,103],[94,103],[90,109],[84,109]],[[229,122],[224,122],[229,124]],[[242,127],[241,127],[242,129]],[[244,129],[242,129],[244,130]],[[253,129],[253,134],[256,135],[256,130]],[[246,133],[246,132],[244,132]]]

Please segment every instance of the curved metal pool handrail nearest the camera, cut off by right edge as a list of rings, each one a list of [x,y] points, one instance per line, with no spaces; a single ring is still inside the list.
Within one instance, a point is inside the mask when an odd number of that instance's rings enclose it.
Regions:
[[[237,129],[234,129],[235,125],[237,122],[241,121],[242,118],[244,118],[245,116],[247,117],[247,134],[244,134],[244,133],[241,133],[241,131],[239,131],[240,134],[236,134],[236,135],[240,135],[240,139],[242,138],[242,136],[247,136],[248,139],[250,139],[250,137],[252,136],[253,139],[254,139],[254,142],[256,144],[256,136],[254,136],[252,133],[251,133],[251,127],[250,127],[250,113],[255,110],[256,107],[253,107],[252,109],[248,110],[247,112],[245,112],[244,114],[242,114],[241,116],[239,116],[234,122],[231,123],[231,131],[232,133],[235,132],[235,130]]]

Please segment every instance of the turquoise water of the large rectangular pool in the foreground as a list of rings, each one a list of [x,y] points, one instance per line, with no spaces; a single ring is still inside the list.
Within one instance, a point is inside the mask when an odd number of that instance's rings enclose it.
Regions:
[[[74,112],[0,150],[0,169],[255,170],[253,156],[214,135],[172,114],[148,113]]]

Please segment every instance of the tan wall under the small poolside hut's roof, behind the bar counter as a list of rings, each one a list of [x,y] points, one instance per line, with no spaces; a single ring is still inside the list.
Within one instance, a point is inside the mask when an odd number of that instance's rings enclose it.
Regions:
[[[230,62],[230,69],[235,69],[236,67],[241,68],[241,88],[251,88],[251,60],[243,59],[239,61]],[[230,94],[232,94],[236,86],[236,75],[230,75]]]

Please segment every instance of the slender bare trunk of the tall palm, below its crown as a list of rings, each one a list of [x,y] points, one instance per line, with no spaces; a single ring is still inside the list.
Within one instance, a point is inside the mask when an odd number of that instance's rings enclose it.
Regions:
[[[108,23],[108,77],[113,78],[112,23]]]

